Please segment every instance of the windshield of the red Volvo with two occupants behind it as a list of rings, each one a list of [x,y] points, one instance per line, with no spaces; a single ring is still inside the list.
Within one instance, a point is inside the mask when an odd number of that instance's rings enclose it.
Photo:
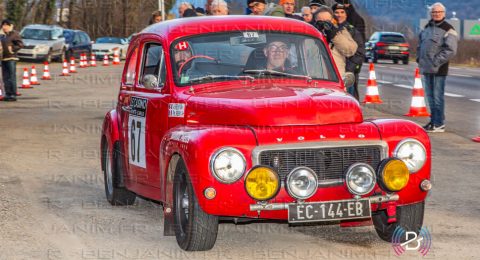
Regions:
[[[171,45],[177,85],[255,78],[338,81],[320,39],[264,31],[179,39]]]

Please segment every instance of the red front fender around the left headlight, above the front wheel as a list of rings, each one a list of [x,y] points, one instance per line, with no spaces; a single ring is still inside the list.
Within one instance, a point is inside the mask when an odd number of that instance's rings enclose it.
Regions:
[[[176,163],[183,160],[187,167],[193,190],[200,207],[208,214],[219,214],[225,203],[233,199],[252,200],[243,190],[243,180],[233,184],[217,181],[210,171],[210,157],[219,148],[234,147],[243,153],[247,162],[246,169],[252,167],[251,151],[257,145],[253,131],[248,127],[234,126],[178,126],[172,128],[161,143],[161,180],[163,201],[167,207],[173,206],[173,180]],[[217,196],[207,200],[203,192],[208,187],[214,187]],[[238,190],[238,192],[236,192]],[[245,194],[245,195],[241,195]],[[244,196],[245,198],[239,198]],[[253,201],[252,201],[253,203]],[[237,214],[248,212],[237,209]],[[222,211],[223,213],[223,211]]]

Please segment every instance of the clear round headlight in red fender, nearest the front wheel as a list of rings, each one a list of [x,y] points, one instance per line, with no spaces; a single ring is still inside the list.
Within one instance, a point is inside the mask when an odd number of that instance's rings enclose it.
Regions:
[[[210,159],[213,176],[223,183],[238,181],[245,173],[246,166],[243,154],[231,147],[216,151]]]

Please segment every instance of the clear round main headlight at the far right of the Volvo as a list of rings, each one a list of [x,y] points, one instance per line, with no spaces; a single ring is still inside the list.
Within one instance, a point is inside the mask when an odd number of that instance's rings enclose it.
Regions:
[[[427,152],[419,141],[409,138],[398,143],[393,156],[404,161],[411,173],[416,173],[425,164]]]

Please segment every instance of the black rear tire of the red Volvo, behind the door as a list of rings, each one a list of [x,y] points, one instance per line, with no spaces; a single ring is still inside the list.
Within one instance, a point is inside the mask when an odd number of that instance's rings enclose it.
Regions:
[[[118,143],[113,151],[108,148],[105,141],[102,148],[103,178],[105,183],[105,195],[112,206],[132,205],[137,195],[123,187],[118,187],[120,171],[120,151]]]

